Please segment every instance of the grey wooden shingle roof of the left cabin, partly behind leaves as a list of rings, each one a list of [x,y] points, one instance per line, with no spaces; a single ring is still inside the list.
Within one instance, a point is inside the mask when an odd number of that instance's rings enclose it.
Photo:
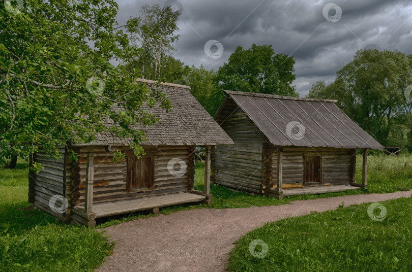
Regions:
[[[148,88],[156,88],[166,93],[172,109],[166,113],[159,107],[149,108],[142,106],[141,110],[154,113],[160,123],[153,126],[135,126],[142,129],[146,141],[142,146],[172,146],[172,145],[229,145],[233,141],[226,132],[216,123],[209,113],[199,104],[190,93],[190,87],[172,83],[157,84],[156,81],[137,79],[144,82]],[[115,110],[119,110],[114,108]],[[107,126],[112,126],[113,121],[108,120]],[[95,145],[129,145],[132,139],[120,139],[110,132],[97,135],[93,142]]]

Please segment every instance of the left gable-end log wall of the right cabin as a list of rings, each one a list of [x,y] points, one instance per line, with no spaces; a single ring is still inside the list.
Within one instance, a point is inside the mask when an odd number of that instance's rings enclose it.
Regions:
[[[212,152],[214,181],[230,188],[260,193],[262,145],[267,138],[240,108],[228,115],[221,126],[234,145],[217,146]]]

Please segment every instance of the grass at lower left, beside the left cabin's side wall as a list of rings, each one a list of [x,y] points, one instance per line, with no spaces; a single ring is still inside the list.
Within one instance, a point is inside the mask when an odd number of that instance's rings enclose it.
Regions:
[[[0,169],[0,271],[92,271],[113,250],[94,228],[56,222],[27,202],[27,165]]]

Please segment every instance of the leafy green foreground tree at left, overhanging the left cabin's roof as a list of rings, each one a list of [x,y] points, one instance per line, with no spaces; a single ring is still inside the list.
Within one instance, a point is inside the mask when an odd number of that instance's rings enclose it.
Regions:
[[[144,131],[132,126],[154,124],[157,118],[139,111],[140,106],[167,110],[170,104],[163,93],[135,84],[135,74],[125,76],[123,66],[110,64],[110,59],[129,61],[138,51],[115,27],[116,2],[19,3],[0,9],[3,163],[13,152],[28,155],[39,148],[57,156],[68,141],[89,143],[103,132],[133,139],[135,153],[142,152],[138,144]],[[109,128],[103,125],[107,118],[114,121]]]

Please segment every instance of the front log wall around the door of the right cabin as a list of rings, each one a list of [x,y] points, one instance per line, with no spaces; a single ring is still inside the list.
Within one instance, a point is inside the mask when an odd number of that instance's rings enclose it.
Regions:
[[[304,155],[321,156],[321,179],[325,184],[347,184],[355,180],[355,149],[283,148],[283,189],[303,186]],[[274,154],[276,156],[276,153]],[[277,160],[273,159],[272,181],[277,182]]]

